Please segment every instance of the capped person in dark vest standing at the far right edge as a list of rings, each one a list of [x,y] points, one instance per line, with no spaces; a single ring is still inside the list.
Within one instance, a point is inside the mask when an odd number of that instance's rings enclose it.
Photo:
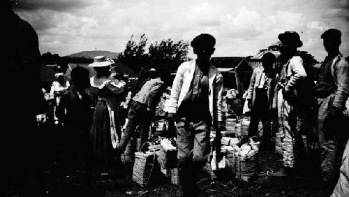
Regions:
[[[314,93],[318,101],[319,145],[325,150],[332,149],[334,153],[325,151],[322,154],[322,178],[333,183],[339,175],[336,158],[343,153],[349,136],[347,126],[343,124],[348,119],[345,114],[348,115],[349,108],[349,70],[348,62],[339,52],[341,31],[328,29],[321,38],[328,55],[320,67]]]

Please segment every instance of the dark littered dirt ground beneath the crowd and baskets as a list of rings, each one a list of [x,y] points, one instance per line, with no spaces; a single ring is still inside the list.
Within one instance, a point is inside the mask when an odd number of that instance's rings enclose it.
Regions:
[[[50,131],[54,133],[53,131]],[[43,137],[43,136],[41,136]],[[47,136],[46,136],[47,137]],[[45,138],[45,135],[44,135]],[[59,141],[59,137],[50,136]],[[161,181],[161,184],[139,187],[132,181],[132,165],[116,168],[105,177],[98,177],[92,184],[84,184],[81,169],[63,170],[60,168],[60,155],[57,144],[46,140],[43,154],[56,156],[46,158],[44,163],[43,184],[45,196],[180,196],[179,186]],[[259,154],[260,173],[251,182],[243,182],[234,178],[224,177],[211,182],[209,175],[202,172],[198,184],[200,196],[329,196],[331,189],[320,182],[313,173],[316,169],[309,168],[304,175],[274,177],[271,174],[281,169],[281,156],[274,152]],[[48,167],[47,167],[48,166]]]

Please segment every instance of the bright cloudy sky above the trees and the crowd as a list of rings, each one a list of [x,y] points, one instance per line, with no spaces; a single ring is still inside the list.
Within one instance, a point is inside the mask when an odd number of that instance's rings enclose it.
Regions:
[[[216,37],[215,57],[248,56],[297,31],[318,61],[326,53],[320,35],[342,31],[349,55],[349,0],[16,0],[15,12],[36,29],[40,52],[61,56],[82,50],[121,52],[132,34],[138,40],[191,41]],[[193,55],[193,54],[191,54]]]

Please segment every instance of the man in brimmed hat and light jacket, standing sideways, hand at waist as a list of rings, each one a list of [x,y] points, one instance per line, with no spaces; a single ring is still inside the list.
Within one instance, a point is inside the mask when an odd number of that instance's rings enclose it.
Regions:
[[[281,58],[285,64],[280,73],[279,85],[276,87],[276,101],[279,109],[279,132],[283,134],[281,140],[284,168],[276,174],[288,175],[295,169],[295,159],[299,159],[299,154],[295,154],[295,147],[297,143],[302,142],[300,133],[304,127],[306,106],[302,102],[304,95],[301,93],[301,87],[304,86],[306,71],[302,58],[297,55],[297,48],[303,45],[297,32],[285,31],[279,34],[279,40],[282,43]]]

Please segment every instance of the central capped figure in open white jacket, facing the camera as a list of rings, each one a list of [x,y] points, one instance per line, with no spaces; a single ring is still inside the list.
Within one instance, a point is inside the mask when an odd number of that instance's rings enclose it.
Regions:
[[[223,76],[209,62],[216,40],[200,34],[191,41],[198,59],[181,64],[168,102],[168,117],[177,122],[179,182],[183,196],[197,196],[195,178],[210,152],[209,132],[216,129],[215,147],[221,143]]]

